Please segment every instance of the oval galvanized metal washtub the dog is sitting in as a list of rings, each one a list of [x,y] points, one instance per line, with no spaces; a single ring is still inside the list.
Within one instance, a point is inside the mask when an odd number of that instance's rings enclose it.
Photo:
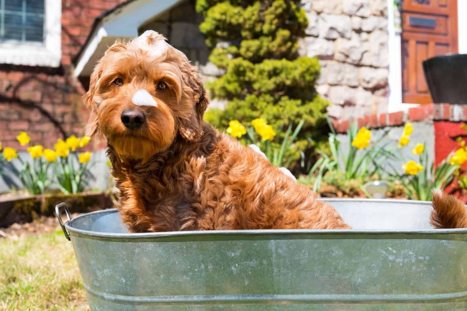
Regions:
[[[466,229],[432,229],[427,202],[323,201],[354,229],[129,234],[102,210],[64,231],[95,311],[467,310]]]

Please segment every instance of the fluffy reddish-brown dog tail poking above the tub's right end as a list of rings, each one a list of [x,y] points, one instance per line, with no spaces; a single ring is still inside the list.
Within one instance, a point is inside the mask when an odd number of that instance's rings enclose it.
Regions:
[[[467,228],[467,209],[464,203],[440,189],[433,190],[433,210],[430,224],[436,229]]]

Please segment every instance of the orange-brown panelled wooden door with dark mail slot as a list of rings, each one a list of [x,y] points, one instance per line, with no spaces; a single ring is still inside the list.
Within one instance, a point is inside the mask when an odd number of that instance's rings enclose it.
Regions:
[[[422,61],[457,53],[457,32],[457,0],[402,1],[403,102],[432,102]]]

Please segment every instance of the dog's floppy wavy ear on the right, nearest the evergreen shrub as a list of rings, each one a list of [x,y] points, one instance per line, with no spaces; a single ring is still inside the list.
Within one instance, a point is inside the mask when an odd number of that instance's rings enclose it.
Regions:
[[[203,115],[209,105],[209,98],[203,87],[203,81],[198,75],[198,68],[195,66],[191,66],[188,80],[188,84],[194,91],[195,105],[193,105],[192,113],[188,118],[179,119],[179,131],[184,139],[194,142],[203,135]]]

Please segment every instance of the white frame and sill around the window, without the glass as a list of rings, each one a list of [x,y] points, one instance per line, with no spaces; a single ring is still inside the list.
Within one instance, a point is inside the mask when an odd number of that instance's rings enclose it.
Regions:
[[[44,42],[0,42],[0,64],[59,67],[62,58],[62,1],[45,0]]]

